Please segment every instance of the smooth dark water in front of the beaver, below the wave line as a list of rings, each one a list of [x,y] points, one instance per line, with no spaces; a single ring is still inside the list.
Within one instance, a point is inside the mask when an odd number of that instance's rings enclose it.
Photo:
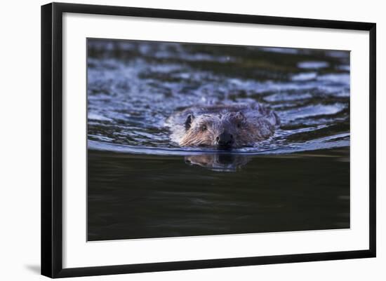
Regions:
[[[213,172],[179,156],[90,151],[88,240],[349,228],[348,156],[252,156]]]

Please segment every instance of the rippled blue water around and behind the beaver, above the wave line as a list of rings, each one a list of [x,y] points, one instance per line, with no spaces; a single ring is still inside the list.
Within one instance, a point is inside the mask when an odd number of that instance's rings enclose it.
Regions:
[[[192,105],[239,102],[271,107],[281,128],[231,153],[350,146],[348,52],[89,40],[88,54],[88,149],[221,153],[179,147],[164,121]]]

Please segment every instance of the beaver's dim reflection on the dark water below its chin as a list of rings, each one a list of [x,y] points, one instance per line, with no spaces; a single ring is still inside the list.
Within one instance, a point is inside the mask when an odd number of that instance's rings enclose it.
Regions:
[[[250,157],[232,153],[213,153],[185,156],[185,163],[200,165],[218,172],[236,172],[251,160]]]

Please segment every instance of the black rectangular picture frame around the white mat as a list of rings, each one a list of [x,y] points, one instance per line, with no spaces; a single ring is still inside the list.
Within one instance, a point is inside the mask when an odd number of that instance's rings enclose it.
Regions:
[[[144,18],[168,18],[214,22],[237,22],[291,27],[352,29],[369,32],[370,70],[370,182],[369,249],[347,252],[319,252],[279,256],[251,256],[231,259],[207,259],[141,263],[86,268],[62,267],[62,15],[84,13],[126,15]],[[375,257],[375,69],[376,25],[369,22],[281,18],[196,11],[172,11],[154,8],[96,6],[53,3],[41,6],[41,274],[48,277],[74,277],[142,273],[164,270],[251,266],[268,263],[295,263],[336,259]]]

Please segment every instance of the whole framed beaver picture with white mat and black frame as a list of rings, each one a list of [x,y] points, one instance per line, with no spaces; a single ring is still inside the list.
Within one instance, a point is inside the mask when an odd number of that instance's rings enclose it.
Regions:
[[[375,256],[375,23],[41,7],[41,273]]]

